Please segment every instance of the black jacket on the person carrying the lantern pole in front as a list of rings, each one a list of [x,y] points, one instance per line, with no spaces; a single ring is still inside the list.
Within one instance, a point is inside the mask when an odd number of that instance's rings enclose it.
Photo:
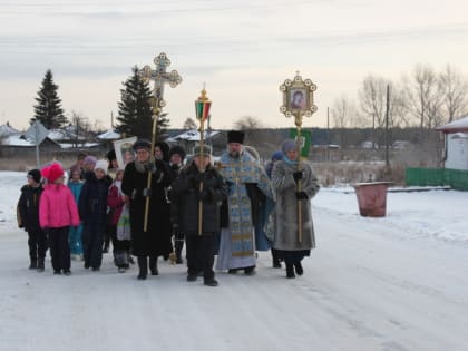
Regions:
[[[203,192],[199,192],[198,179],[203,179]],[[221,174],[208,165],[201,174],[192,163],[184,168],[172,186],[172,216],[173,223],[185,235],[198,235],[198,206],[202,199],[202,233],[214,234],[220,232],[221,202],[227,196],[227,186]]]

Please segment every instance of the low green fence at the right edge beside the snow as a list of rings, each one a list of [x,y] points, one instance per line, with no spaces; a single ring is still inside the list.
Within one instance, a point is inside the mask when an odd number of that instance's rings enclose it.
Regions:
[[[468,191],[468,170],[441,168],[407,168],[407,186],[450,186],[457,191]]]

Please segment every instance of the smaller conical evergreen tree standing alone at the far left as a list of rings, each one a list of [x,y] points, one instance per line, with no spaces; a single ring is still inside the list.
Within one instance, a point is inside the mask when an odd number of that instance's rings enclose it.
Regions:
[[[31,124],[39,120],[47,129],[61,128],[67,124],[57,89],[58,85],[53,82],[52,71],[48,69],[36,98],[38,105],[35,105],[35,117],[31,118]]]

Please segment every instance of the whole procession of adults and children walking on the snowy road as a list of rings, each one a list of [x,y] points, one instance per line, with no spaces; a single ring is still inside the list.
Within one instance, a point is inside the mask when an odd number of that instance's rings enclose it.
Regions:
[[[253,276],[257,252],[269,250],[287,279],[302,275],[315,247],[310,201],[320,186],[298,149],[285,140],[265,169],[244,147],[244,133],[230,130],[216,164],[209,145],[184,163],[179,145],[139,138],[125,168],[111,150],[107,159],[79,154],[68,184],[57,162],[32,169],[18,202],[29,269],[43,272],[49,248],[55,274],[70,275],[71,260],[97,272],[111,243],[118,272],[135,256],[140,281],[159,274],[162,257],[186,263],[188,282],[202,276],[217,286],[215,272]]]

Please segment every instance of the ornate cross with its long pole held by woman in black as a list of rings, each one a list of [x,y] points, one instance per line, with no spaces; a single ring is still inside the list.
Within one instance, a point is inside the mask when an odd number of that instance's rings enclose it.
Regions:
[[[152,150],[150,155],[153,156],[155,153],[155,143],[156,143],[156,127],[157,120],[160,115],[160,111],[164,106],[166,106],[166,101],[164,100],[164,85],[167,82],[172,88],[175,88],[177,85],[182,82],[182,77],[178,75],[176,70],[168,72],[166,69],[170,66],[170,60],[167,58],[166,53],[162,52],[159,56],[155,57],[154,62],[156,65],[156,69],[152,69],[149,66],[145,66],[140,71],[139,76],[146,80],[154,80],[155,88],[153,90],[152,97],[152,107],[153,107],[153,133],[152,133]],[[148,172],[148,182],[147,187],[152,187],[152,176],[153,174]],[[148,212],[149,212],[149,196],[146,197],[146,206],[145,206],[145,218],[143,224],[144,232],[148,228]]]

